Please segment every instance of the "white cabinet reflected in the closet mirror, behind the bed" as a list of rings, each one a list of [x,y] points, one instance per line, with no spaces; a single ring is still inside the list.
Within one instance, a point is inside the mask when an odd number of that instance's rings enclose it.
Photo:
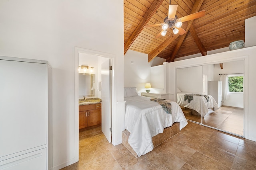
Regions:
[[[208,94],[217,102],[218,106],[222,106],[222,81],[209,81]]]

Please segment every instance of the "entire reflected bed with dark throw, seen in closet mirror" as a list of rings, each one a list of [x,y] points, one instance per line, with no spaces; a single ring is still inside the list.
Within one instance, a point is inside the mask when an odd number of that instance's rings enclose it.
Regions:
[[[191,92],[179,92],[177,93],[177,103],[180,106],[187,107],[195,110],[199,115],[207,116],[219,109],[218,104],[214,98],[210,95],[199,95]],[[201,111],[202,104],[202,111]]]

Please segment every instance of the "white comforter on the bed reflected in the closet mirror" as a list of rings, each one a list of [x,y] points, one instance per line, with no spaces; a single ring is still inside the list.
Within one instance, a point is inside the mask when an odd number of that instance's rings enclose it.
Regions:
[[[177,93],[177,103],[180,106],[188,107],[190,109],[197,111],[203,117],[207,115],[209,108],[214,108],[214,110],[219,109],[218,104],[216,103],[214,98],[210,95],[207,95],[209,96],[208,102],[204,96],[193,96],[193,100],[191,100],[190,103],[188,103],[188,100],[184,101],[185,94],[192,94],[192,93],[185,93],[185,92]],[[202,111],[201,111],[201,105],[202,105]]]

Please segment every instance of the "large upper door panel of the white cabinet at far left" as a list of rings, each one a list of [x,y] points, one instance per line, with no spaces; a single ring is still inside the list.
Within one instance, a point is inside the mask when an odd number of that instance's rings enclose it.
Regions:
[[[0,157],[46,145],[47,65],[0,59],[0,68]]]

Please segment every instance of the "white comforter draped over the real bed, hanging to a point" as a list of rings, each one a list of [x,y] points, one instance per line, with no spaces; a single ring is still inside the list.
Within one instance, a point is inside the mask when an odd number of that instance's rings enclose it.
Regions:
[[[188,122],[178,104],[172,104],[172,115],[166,113],[157,102],[150,101],[144,96],[124,98],[125,129],[130,132],[128,143],[138,156],[150,152],[154,146],[152,137],[163,133],[165,127],[180,122],[180,129]]]

